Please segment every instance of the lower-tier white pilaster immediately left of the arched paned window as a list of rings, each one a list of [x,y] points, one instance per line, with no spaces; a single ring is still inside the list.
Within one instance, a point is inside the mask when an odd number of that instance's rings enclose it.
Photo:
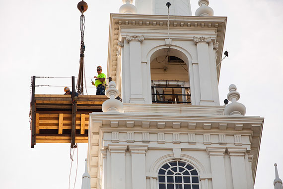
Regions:
[[[147,146],[129,146],[132,154],[133,189],[146,189],[145,153]]]

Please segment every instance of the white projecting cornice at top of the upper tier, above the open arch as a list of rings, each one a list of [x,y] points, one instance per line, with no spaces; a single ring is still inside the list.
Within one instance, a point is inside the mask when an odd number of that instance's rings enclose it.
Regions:
[[[172,39],[179,40],[193,40],[193,37],[186,37],[186,35],[178,34],[182,30],[214,30],[214,36],[208,35],[204,37],[212,37],[213,42],[219,43],[216,65],[222,58],[222,51],[225,38],[227,17],[220,16],[173,16],[169,17],[169,26]],[[110,27],[109,27],[109,45],[108,45],[108,76],[112,77],[113,81],[116,80],[117,69],[117,41],[121,40],[121,28],[136,28],[136,29],[159,29],[167,30],[167,15],[145,15],[145,14],[110,14]],[[160,33],[160,32],[159,32]],[[134,33],[136,34],[136,33]],[[140,33],[144,35],[144,39],[154,39],[157,36],[150,33]],[[125,34],[126,35],[126,34]],[[159,35],[159,38],[166,38],[167,35]],[[192,36],[198,36],[197,33]],[[220,66],[217,67],[217,77],[219,80]]]

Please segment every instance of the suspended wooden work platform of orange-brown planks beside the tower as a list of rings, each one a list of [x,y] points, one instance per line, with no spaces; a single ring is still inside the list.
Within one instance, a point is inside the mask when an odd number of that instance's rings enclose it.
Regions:
[[[75,137],[75,143],[87,143],[88,114],[102,111],[101,105],[107,99],[106,95],[79,95],[72,103],[71,95],[34,95],[34,111],[31,103],[30,113],[31,147],[36,143],[71,143],[72,137]],[[74,130],[73,105],[76,107]]]

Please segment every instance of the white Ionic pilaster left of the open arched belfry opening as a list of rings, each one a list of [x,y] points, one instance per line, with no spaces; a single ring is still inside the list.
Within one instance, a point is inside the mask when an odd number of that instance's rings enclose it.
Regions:
[[[126,40],[130,44],[130,103],[144,103],[141,72],[141,42],[143,36],[127,36]]]

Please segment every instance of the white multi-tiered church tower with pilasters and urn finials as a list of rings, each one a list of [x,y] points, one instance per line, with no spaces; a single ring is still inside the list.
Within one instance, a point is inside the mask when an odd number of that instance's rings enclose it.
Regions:
[[[110,15],[110,99],[89,114],[91,188],[253,189],[264,118],[245,116],[235,85],[219,102],[227,18],[209,0],[196,16],[190,0],[123,3]]]

